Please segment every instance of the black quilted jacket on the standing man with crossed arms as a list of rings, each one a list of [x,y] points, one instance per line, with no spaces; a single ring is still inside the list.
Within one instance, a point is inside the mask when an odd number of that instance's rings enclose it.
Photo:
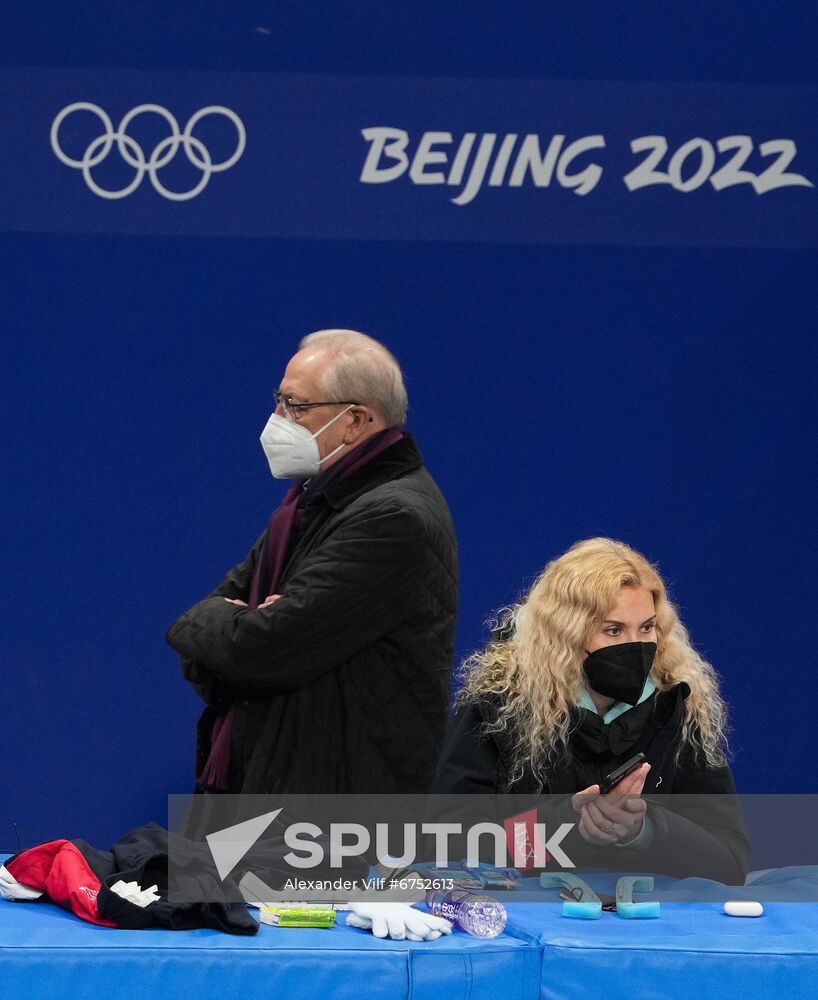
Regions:
[[[457,610],[451,517],[412,438],[310,497],[278,590],[248,610],[266,532],[168,631],[208,703],[235,702],[230,791],[424,792],[446,720]]]

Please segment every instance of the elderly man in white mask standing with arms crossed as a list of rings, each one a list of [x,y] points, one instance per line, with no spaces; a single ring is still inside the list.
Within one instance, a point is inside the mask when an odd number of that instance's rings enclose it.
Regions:
[[[411,435],[397,362],[351,330],[306,337],[261,435],[296,482],[249,555],[168,631],[207,702],[198,786],[423,792],[457,603],[451,517]]]

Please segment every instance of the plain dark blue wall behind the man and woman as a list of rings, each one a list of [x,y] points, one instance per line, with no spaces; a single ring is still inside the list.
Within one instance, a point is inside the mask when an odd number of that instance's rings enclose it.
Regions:
[[[236,6],[241,10],[236,11]],[[366,9],[364,9],[364,7]],[[445,13],[443,11],[445,10]],[[815,11],[734,3],[27,4],[0,40],[4,275],[0,849],[104,843],[191,784],[199,711],[168,623],[282,493],[258,434],[297,340],[366,330],[402,361],[410,428],[461,546],[459,653],[579,538],[657,560],[732,708],[742,791],[818,791],[815,199],[703,180],[629,191],[664,135],[790,139],[818,182]],[[262,29],[262,30],[259,30]],[[197,197],[106,200],[54,155],[77,101],[246,126]],[[85,113],[60,137],[97,134]],[[196,131],[213,159],[235,132]],[[577,195],[360,180],[361,130],[605,146]],[[167,134],[144,116],[150,152]],[[70,147],[70,152],[68,150]],[[515,153],[518,147],[515,147]],[[706,150],[681,167],[682,185]],[[494,152],[496,153],[495,146]],[[93,168],[134,176],[116,151]],[[180,151],[161,174],[200,174]],[[177,162],[179,161],[179,162]],[[439,161],[440,162],[440,161]],[[509,171],[513,165],[513,156]],[[384,160],[382,165],[385,165]],[[437,170],[428,166],[427,172]]]

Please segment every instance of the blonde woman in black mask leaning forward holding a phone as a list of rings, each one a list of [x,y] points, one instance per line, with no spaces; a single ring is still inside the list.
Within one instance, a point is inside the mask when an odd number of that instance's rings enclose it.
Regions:
[[[616,848],[624,867],[735,884],[749,843],[725,724],[715,671],[656,568],[592,538],[549,563],[464,663],[434,791],[563,793],[576,864]],[[639,753],[603,794],[603,778]]]

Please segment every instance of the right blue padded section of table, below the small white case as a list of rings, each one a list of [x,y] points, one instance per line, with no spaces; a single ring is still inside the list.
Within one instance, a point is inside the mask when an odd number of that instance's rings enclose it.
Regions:
[[[543,1000],[818,997],[818,903],[765,903],[758,918],[720,902],[661,905],[656,919],[577,920],[559,903],[519,903],[510,923],[543,945]]]

